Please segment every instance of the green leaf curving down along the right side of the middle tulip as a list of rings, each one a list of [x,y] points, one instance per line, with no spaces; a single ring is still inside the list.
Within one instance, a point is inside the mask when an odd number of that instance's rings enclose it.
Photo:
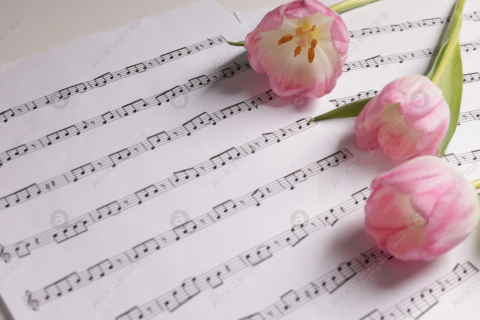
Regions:
[[[444,74],[437,86],[442,89],[444,99],[450,108],[450,123],[444,140],[440,143],[438,151],[444,156],[450,140],[452,140],[458,125],[458,117],[460,115],[460,104],[462,102],[463,90],[463,68],[462,57],[460,55],[460,42],[457,41],[454,54],[448,63]],[[447,125],[445,123],[445,125]]]

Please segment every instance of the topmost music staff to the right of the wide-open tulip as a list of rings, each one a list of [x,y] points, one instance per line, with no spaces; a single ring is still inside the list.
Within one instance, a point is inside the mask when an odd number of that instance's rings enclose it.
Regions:
[[[384,25],[379,27],[370,27],[370,28],[363,28],[360,30],[349,31],[350,38],[359,38],[364,36],[373,36],[373,35],[381,35],[385,33],[391,32],[398,32],[410,29],[418,29],[423,27],[428,27],[432,25],[443,25],[445,23],[449,23],[452,16],[443,17],[443,18],[431,18],[431,19],[424,19],[420,21],[413,21],[413,22],[406,22],[402,24],[390,24]],[[480,21],[480,15],[477,12],[470,12],[465,13],[463,15],[463,21]]]

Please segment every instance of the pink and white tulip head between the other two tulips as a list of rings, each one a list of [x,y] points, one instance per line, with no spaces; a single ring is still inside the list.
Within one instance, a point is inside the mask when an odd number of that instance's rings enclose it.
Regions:
[[[450,121],[442,90],[430,79],[409,75],[387,84],[355,121],[360,148],[368,149],[385,132],[383,152],[396,160],[435,155]]]

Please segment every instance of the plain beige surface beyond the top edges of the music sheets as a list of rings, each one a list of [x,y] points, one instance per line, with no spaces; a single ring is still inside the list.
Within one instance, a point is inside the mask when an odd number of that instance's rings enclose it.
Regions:
[[[0,64],[131,23],[137,18],[138,12],[154,16],[196,1],[0,0],[0,30],[6,30],[23,12],[28,13],[28,19],[21,24],[21,28],[0,44]],[[216,1],[235,17],[234,12],[272,7],[278,0]],[[0,320],[12,319],[0,299]]]

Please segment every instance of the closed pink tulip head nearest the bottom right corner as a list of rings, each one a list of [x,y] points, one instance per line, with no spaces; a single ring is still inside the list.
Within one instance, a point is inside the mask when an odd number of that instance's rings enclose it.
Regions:
[[[425,155],[372,181],[365,229],[380,249],[400,260],[433,260],[475,228],[480,201],[455,166]]]

